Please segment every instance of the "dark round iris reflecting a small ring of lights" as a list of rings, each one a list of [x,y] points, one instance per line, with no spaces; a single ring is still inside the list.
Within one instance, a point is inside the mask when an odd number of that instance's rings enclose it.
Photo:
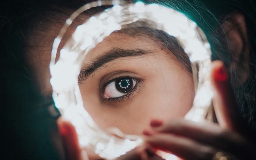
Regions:
[[[116,89],[122,93],[128,93],[132,90],[133,82],[131,78],[122,78],[116,80]]]

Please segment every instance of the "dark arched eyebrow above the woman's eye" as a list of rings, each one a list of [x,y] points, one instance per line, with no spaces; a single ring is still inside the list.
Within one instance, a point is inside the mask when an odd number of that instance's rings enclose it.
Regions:
[[[82,66],[80,74],[78,76],[78,83],[81,83],[83,80],[86,80],[93,72],[100,68],[103,64],[106,64],[116,58],[129,57],[129,56],[142,56],[149,54],[148,52],[142,49],[122,49],[122,48],[112,48],[111,50],[106,51],[102,56],[98,56],[95,60],[92,61],[92,64],[88,66]]]

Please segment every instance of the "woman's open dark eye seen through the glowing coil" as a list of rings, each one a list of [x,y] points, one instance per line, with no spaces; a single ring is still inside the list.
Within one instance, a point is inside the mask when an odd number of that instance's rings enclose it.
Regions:
[[[102,88],[104,100],[119,101],[130,98],[140,87],[138,78],[122,76],[109,80]]]

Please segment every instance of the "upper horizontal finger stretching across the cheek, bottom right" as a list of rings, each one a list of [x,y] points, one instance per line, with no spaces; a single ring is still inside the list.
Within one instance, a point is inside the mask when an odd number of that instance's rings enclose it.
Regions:
[[[255,148],[239,134],[220,128],[217,124],[193,122],[189,120],[171,120],[161,126],[152,127],[153,132],[144,131],[145,135],[154,135],[156,132],[175,134],[192,139],[196,142],[213,146],[225,152],[238,154],[254,153]],[[240,155],[239,155],[240,156]]]

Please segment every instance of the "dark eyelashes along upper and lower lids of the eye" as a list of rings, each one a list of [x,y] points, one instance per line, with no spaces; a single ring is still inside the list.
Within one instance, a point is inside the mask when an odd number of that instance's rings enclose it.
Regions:
[[[120,103],[120,102],[123,102],[124,100],[129,100],[131,96],[134,96],[135,92],[138,92],[138,89],[140,88],[142,80],[140,80],[138,78],[130,77],[130,76],[120,76],[120,77],[113,78],[113,79],[109,80],[108,82],[106,82],[101,89],[101,93],[104,93],[104,90],[106,89],[106,86],[108,86],[108,84],[110,84],[111,82],[114,82],[120,78],[132,78],[136,81],[136,85],[128,94],[126,94],[124,96],[120,96],[120,97],[116,97],[116,98],[107,98],[104,100],[108,100],[109,102],[119,102]]]

